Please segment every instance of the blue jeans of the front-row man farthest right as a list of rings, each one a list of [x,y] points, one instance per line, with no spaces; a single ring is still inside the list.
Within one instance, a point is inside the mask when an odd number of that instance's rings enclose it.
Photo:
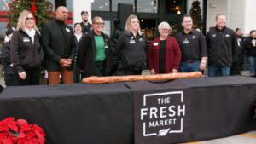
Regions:
[[[230,76],[230,66],[221,67],[221,66],[208,66],[208,76]]]

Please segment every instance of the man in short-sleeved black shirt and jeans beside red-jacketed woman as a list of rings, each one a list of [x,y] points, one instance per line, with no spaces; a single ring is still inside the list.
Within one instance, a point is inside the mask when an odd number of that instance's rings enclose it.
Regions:
[[[182,52],[180,72],[200,72],[207,66],[207,43],[201,32],[195,31],[190,15],[184,15],[183,32],[175,37]]]

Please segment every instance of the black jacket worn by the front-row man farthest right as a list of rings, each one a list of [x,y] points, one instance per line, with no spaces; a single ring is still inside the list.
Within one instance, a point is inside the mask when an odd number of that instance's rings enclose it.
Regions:
[[[218,26],[207,32],[209,66],[231,66],[237,57],[236,33],[228,27],[222,30]]]

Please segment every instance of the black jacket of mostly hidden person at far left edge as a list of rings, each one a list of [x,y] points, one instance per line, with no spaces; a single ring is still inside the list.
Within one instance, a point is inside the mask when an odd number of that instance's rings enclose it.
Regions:
[[[10,57],[10,42],[3,43],[2,62],[3,62],[3,71],[5,74],[15,74],[15,69],[10,66],[12,64],[11,57]]]

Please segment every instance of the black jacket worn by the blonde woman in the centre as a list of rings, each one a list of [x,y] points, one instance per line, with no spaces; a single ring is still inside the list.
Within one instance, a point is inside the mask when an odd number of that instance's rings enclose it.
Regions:
[[[116,43],[116,53],[119,59],[119,67],[142,70],[147,63],[147,40],[142,34],[134,37],[131,33],[124,32]]]

